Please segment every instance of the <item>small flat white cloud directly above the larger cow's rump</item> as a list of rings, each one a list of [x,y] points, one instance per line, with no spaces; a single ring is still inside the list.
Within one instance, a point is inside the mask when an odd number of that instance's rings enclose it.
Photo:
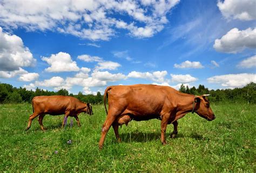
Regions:
[[[125,79],[125,75],[122,73],[112,74],[108,71],[105,71],[105,72],[95,71],[92,73],[92,78],[103,80],[103,81],[118,81],[118,80]]]

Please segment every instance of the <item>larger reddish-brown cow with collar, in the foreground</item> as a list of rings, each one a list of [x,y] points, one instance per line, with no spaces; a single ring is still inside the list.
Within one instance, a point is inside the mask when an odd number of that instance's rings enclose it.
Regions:
[[[109,112],[106,109],[107,96],[109,98]],[[118,126],[127,125],[131,120],[161,120],[161,143],[166,144],[167,124],[173,124],[174,130],[171,136],[174,137],[178,133],[177,120],[187,113],[196,112],[208,121],[215,119],[210,103],[205,96],[208,95],[195,96],[181,93],[168,86],[142,84],[109,86],[104,94],[107,117],[102,127],[99,148],[103,147],[110,126],[113,127],[114,134],[120,141]]]

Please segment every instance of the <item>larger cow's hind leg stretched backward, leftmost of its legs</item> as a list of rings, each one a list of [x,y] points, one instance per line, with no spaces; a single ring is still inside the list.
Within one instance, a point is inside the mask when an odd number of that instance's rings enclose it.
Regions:
[[[104,122],[102,127],[102,136],[100,137],[100,140],[99,140],[99,149],[102,149],[106,134],[109,131],[109,128],[112,126],[115,119],[116,119],[116,115],[112,114],[111,111],[109,111],[106,117],[106,121]]]

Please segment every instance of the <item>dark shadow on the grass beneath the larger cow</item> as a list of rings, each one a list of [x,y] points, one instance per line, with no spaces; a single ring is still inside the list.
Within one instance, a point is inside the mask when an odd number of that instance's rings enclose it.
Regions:
[[[148,142],[148,141],[157,141],[160,140],[161,133],[158,132],[149,132],[149,133],[143,133],[143,132],[131,132],[131,133],[122,133],[120,134],[120,138],[122,139],[122,142]],[[166,134],[167,138],[170,137],[170,133]],[[184,137],[184,135],[177,134],[175,138]]]

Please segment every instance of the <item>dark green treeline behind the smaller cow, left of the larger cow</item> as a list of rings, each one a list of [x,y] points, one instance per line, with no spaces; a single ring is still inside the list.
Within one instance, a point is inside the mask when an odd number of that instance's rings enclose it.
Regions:
[[[35,91],[32,91],[22,87],[16,88],[10,84],[0,84],[0,103],[31,102],[34,96],[39,95],[69,95],[87,103],[103,103],[103,95],[101,95],[100,92],[98,92],[97,95],[84,95],[82,92],[79,92],[77,95],[73,95],[66,89],[60,89],[57,92],[53,92],[36,88]]]

